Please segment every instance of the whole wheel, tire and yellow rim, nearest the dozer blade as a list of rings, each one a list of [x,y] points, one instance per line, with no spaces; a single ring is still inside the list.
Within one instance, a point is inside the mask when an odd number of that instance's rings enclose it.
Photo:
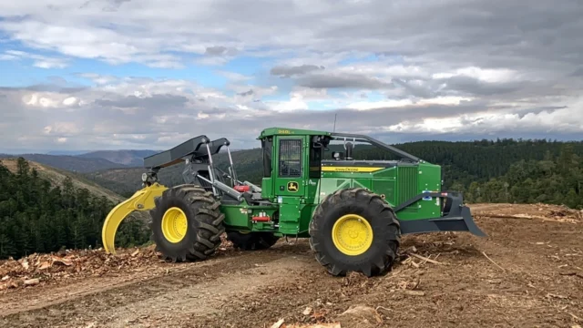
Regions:
[[[332,275],[384,274],[391,269],[400,242],[394,210],[381,196],[362,188],[328,195],[310,222],[312,251]]]

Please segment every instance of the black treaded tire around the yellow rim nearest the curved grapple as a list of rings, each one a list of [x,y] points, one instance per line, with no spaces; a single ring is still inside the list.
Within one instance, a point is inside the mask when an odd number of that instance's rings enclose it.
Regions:
[[[165,260],[206,260],[220,246],[225,215],[220,212],[220,202],[212,197],[212,192],[197,185],[180,185],[165,190],[154,201],[156,207],[150,210],[152,240]],[[162,218],[171,208],[182,210],[188,222],[186,233],[178,242],[170,242],[162,232]]]

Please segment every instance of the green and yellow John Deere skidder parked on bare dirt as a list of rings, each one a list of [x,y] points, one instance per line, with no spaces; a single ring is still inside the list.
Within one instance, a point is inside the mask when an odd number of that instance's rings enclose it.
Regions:
[[[458,192],[442,191],[441,168],[361,135],[267,128],[261,188],[237,178],[226,138],[191,138],[144,159],[144,188],[113,209],[103,244],[114,251],[119,223],[134,210],[149,210],[152,239],[172,261],[208,258],[227,232],[235,247],[266,249],[281,237],[309,238],[315,258],[332,275],[390,269],[402,234],[470,231],[485,236]],[[331,142],[344,152],[323,155]],[[364,142],[399,160],[354,160]],[[225,147],[228,172],[213,163]],[[368,146],[371,147],[371,146]],[[342,150],[341,149],[341,150]],[[167,188],[159,169],[186,162],[185,184]]]

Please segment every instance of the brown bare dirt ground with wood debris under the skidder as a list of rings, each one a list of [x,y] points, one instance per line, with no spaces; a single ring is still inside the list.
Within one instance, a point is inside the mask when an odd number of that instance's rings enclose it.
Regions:
[[[184,264],[151,249],[0,262],[0,326],[583,325],[583,213],[471,208],[487,238],[404,236],[394,270],[371,279],[328,275],[302,240],[267,251],[225,245],[209,261]]]

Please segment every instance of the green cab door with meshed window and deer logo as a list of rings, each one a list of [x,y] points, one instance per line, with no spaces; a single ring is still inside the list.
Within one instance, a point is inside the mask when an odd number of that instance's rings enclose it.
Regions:
[[[304,147],[302,137],[277,138],[276,168],[274,191],[277,196],[303,197],[305,194]]]

